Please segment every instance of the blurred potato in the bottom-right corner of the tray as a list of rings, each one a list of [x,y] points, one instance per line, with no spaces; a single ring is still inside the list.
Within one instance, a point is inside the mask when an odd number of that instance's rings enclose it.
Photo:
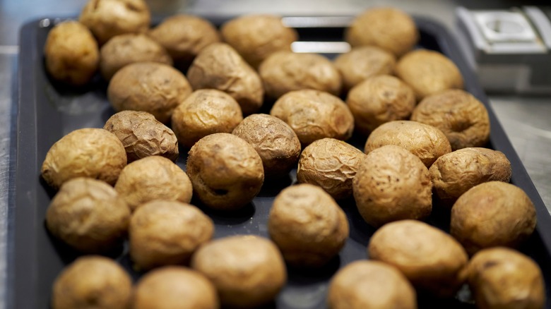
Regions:
[[[530,257],[509,248],[481,250],[470,259],[468,283],[481,309],[540,309],[545,283]]]

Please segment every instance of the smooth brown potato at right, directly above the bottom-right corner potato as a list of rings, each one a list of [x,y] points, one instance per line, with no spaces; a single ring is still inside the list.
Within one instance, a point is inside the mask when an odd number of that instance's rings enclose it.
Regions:
[[[483,248],[519,246],[535,224],[535,207],[528,195],[502,181],[470,188],[451,207],[450,234],[470,255]]]

